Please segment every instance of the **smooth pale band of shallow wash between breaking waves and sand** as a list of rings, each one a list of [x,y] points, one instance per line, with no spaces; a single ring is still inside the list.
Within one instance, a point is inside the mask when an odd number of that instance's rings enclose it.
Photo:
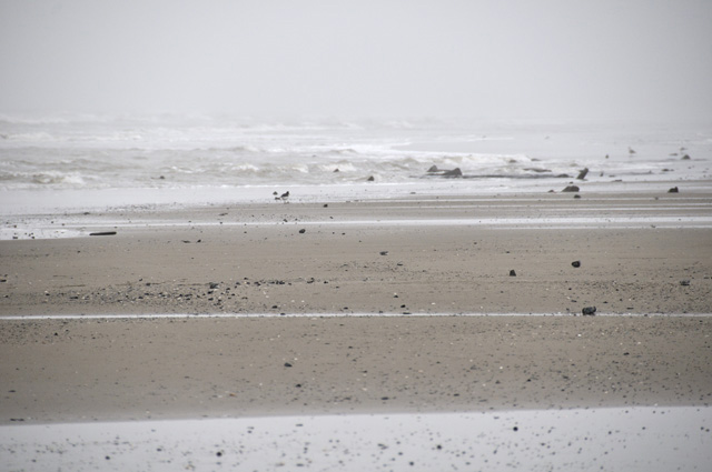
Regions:
[[[344,184],[274,183],[244,187],[115,188],[115,189],[12,189],[0,194],[0,214],[22,219],[58,213],[158,211],[181,212],[206,207],[275,204],[273,191],[291,190],[290,201],[304,204],[424,199],[551,199],[571,198],[562,192],[570,184],[581,188],[582,198],[637,200],[646,198],[709,199],[712,183],[699,179],[592,180],[573,178],[531,179],[516,184],[508,179],[417,179],[403,182],[352,182]],[[364,177],[366,179],[366,177]],[[680,193],[668,190],[678,187]],[[551,193],[551,192],[554,193]]]

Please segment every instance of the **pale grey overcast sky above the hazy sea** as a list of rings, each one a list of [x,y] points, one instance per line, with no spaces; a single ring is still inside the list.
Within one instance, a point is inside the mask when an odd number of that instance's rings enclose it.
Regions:
[[[710,0],[0,0],[0,112],[712,118]]]

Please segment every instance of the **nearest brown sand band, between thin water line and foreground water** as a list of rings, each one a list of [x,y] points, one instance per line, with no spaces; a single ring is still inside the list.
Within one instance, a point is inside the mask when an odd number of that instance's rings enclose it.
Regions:
[[[2,422],[709,405],[710,318],[6,321]]]

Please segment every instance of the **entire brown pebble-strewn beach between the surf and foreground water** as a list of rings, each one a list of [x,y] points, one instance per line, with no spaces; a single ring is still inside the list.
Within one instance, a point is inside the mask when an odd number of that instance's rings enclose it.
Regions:
[[[680,314],[712,312],[711,202],[412,197],[56,217],[117,234],[1,241],[0,317],[274,317],[1,320],[0,422],[709,405],[711,319]]]

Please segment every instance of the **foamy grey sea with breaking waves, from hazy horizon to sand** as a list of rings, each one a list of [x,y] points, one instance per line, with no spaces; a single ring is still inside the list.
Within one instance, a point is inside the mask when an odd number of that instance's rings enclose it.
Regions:
[[[462,177],[428,174],[432,165]],[[709,188],[712,125],[0,116],[0,214],[260,201],[294,188],[295,201],[561,190],[584,168],[587,184]]]

